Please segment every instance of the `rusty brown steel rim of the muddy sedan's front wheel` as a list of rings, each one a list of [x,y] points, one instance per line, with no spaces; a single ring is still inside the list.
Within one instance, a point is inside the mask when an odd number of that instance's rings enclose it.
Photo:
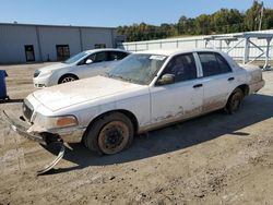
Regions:
[[[111,155],[121,152],[129,141],[129,128],[124,122],[112,121],[106,124],[98,135],[98,146],[103,153]]]

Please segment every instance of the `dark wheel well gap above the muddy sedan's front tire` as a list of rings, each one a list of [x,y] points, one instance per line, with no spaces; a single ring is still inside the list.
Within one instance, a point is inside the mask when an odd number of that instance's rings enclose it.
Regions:
[[[85,130],[85,132],[84,132],[84,134],[83,134],[83,138],[84,138],[85,134],[87,134],[87,132],[88,132],[88,130],[92,128],[92,125],[93,125],[99,118],[104,118],[104,116],[107,116],[107,114],[110,114],[110,113],[114,113],[114,112],[120,112],[120,113],[123,113],[126,117],[128,117],[129,120],[131,120],[131,122],[132,122],[132,124],[133,124],[133,131],[134,131],[134,133],[138,132],[138,130],[139,130],[139,121],[138,121],[138,119],[135,118],[135,116],[134,116],[132,112],[128,111],[128,110],[119,109],[119,110],[107,111],[107,112],[105,112],[105,113],[102,113],[102,114],[97,116],[95,119],[93,119],[93,120],[90,122],[87,129]]]

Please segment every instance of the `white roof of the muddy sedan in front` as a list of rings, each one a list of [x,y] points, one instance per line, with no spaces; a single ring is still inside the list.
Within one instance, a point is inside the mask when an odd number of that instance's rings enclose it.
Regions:
[[[163,56],[175,56],[179,53],[187,52],[221,52],[214,49],[158,49],[158,50],[144,50],[138,51],[135,53],[146,53],[146,55],[163,55]]]

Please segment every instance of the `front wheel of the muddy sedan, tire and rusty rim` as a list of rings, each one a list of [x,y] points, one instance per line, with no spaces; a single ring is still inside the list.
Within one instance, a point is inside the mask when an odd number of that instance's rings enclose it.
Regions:
[[[87,129],[84,145],[98,154],[114,155],[128,148],[133,141],[133,124],[120,112],[103,116]]]

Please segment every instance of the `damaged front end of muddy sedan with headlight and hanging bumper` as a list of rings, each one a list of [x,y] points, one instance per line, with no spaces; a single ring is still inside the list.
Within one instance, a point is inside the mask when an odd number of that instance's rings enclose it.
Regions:
[[[35,102],[32,104],[28,99],[32,102],[35,101],[32,95],[24,100],[22,116],[13,117],[5,111],[3,111],[3,114],[12,130],[20,135],[44,146],[49,144],[59,146],[58,156],[49,165],[37,171],[38,174],[43,174],[52,169],[63,157],[66,150],[63,143],[80,142],[85,129],[80,128],[78,119],[74,116],[44,116],[38,112],[39,109],[46,110],[44,106]]]

